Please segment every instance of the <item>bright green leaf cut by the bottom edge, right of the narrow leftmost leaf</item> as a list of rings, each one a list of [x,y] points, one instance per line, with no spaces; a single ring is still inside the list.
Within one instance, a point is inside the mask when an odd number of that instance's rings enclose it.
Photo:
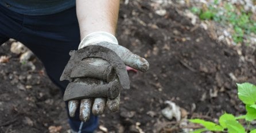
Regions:
[[[245,128],[243,128],[242,124],[238,123],[236,120],[227,120],[227,131],[229,133],[243,133],[245,132]]]

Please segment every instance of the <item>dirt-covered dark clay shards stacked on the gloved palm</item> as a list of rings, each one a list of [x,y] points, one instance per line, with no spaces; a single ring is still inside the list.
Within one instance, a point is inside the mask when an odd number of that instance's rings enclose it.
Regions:
[[[130,81],[126,71],[126,66],[122,59],[113,52],[113,50],[104,46],[91,45],[86,46],[83,49],[71,51],[69,54],[71,55],[71,58],[60,77],[61,81],[69,80],[71,82],[64,94],[65,101],[89,97],[108,97],[110,99],[114,99],[118,96],[117,94],[119,94],[119,88],[130,88]],[[102,60],[107,61],[110,65],[102,66],[102,69],[99,71],[97,70],[98,72],[79,71],[84,69],[83,66],[87,66],[88,69],[91,69],[92,71],[96,70],[93,70],[93,67],[90,64],[86,64],[87,58],[102,58]],[[84,78],[86,76],[94,76],[94,78],[107,81],[108,84],[95,86],[95,84],[88,85],[87,82],[83,83],[75,81],[76,79],[81,77]],[[112,80],[115,79],[115,76],[118,77],[118,85],[115,83],[113,84],[112,82]],[[97,89],[97,91],[94,89]]]

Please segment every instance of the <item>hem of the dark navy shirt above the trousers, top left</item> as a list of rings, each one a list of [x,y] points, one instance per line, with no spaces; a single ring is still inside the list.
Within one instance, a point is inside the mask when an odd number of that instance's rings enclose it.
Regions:
[[[46,15],[74,7],[75,0],[1,0],[0,4],[20,14]]]

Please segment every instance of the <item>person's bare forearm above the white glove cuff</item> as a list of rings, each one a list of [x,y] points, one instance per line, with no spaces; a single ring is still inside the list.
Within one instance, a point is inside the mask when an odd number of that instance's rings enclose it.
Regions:
[[[119,11],[119,0],[76,0],[76,14],[80,37],[92,32],[115,34]]]

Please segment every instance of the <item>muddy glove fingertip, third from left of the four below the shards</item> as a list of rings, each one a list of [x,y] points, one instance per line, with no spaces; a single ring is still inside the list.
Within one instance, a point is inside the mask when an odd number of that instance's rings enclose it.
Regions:
[[[106,107],[106,99],[105,98],[95,98],[94,105],[92,105],[92,114],[101,115],[103,114]]]

